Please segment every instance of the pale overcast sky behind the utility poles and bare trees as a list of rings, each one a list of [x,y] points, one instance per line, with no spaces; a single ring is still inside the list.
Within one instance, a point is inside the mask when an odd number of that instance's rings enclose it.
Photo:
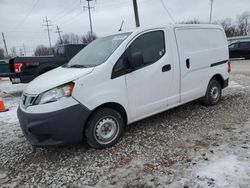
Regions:
[[[194,18],[209,20],[210,0],[138,0],[141,26],[172,23],[163,1],[176,22]],[[92,6],[93,30],[98,36],[116,32],[122,20],[123,29],[135,27],[132,0],[96,0]],[[52,44],[58,39],[55,26],[63,33],[85,34],[89,31],[88,12],[83,11],[85,0],[0,0],[0,32],[4,32],[8,49],[26,47],[32,55],[39,44],[49,46],[43,19],[51,20]],[[235,19],[250,10],[250,0],[214,0],[213,20]],[[62,33],[62,34],[63,34]],[[2,37],[0,47],[3,46]],[[18,50],[19,52],[19,50]]]

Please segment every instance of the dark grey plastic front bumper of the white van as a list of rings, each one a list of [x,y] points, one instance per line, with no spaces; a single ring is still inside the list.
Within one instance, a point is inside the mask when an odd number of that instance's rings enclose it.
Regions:
[[[77,104],[59,111],[32,114],[17,110],[24,136],[33,146],[80,143],[90,110]]]

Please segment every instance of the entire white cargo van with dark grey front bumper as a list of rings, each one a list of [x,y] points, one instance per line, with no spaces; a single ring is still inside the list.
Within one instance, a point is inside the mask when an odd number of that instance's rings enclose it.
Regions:
[[[99,38],[68,64],[32,81],[18,118],[34,146],[114,145],[124,126],[202,98],[217,104],[228,86],[224,30],[170,25]]]

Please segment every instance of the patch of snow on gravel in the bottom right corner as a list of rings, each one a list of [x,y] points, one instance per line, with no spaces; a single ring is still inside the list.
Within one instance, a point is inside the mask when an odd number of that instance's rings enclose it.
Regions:
[[[218,148],[210,147],[210,152],[201,153],[201,158],[196,154],[195,165],[185,169],[169,187],[249,188],[250,120],[224,137],[226,142]]]

